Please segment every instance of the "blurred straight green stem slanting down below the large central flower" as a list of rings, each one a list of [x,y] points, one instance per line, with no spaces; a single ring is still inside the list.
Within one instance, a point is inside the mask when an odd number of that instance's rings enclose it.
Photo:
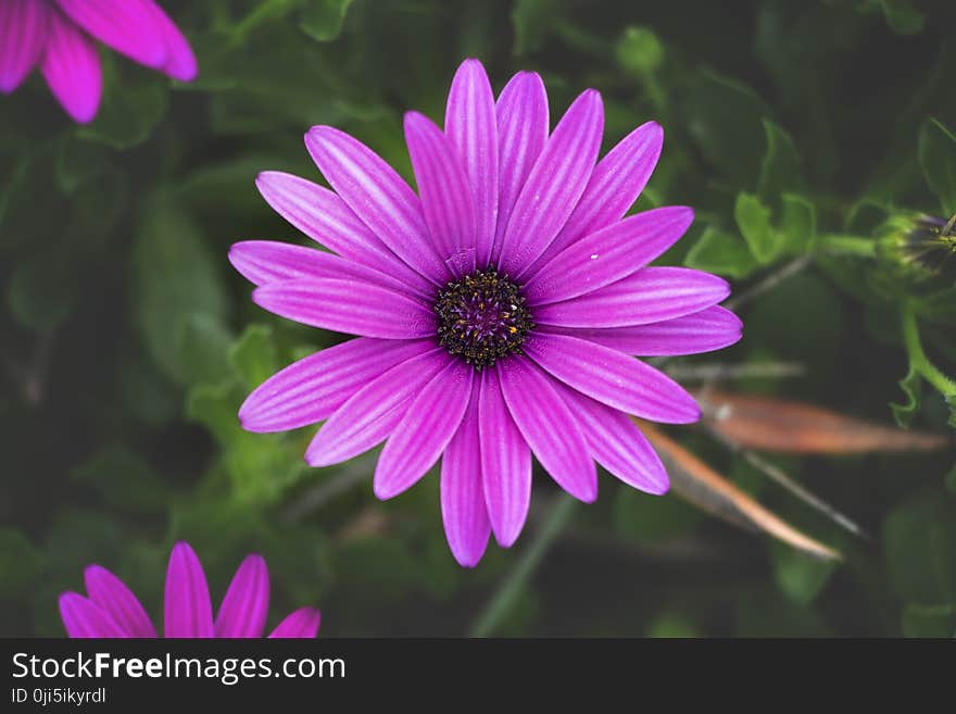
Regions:
[[[577,501],[567,493],[562,493],[555,499],[541,529],[534,534],[531,544],[521,553],[514,568],[505,576],[501,587],[471,627],[471,637],[488,637],[511,612],[534,574],[538,564],[570,521],[576,503]]]

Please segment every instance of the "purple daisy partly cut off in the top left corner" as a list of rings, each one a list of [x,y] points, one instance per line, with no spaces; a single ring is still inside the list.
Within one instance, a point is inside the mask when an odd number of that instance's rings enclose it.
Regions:
[[[39,66],[66,113],[92,121],[103,88],[95,40],[174,79],[196,77],[189,43],[153,0],[2,0],[0,91]]]

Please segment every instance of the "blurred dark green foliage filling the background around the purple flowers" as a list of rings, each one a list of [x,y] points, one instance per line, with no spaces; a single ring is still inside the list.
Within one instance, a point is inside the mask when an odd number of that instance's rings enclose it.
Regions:
[[[104,52],[104,101],[87,127],[36,76],[0,98],[0,632],[61,635],[55,596],[81,588],[92,562],[158,614],[177,539],[198,550],[214,599],[244,553],[263,553],[272,617],[315,604],[325,636],[468,631],[540,510],[513,551],[491,546],[462,571],[444,544],[437,474],[378,503],[374,454],[311,469],[301,454],[314,429],[243,431],[236,412],[254,386],[341,337],[259,310],[226,261],[239,239],[305,241],[253,179],[317,179],[301,143],[313,124],[353,133],[411,179],[402,112],[440,120],[468,55],[495,88],[517,70],[541,72],[553,116],[600,89],[605,149],[647,118],[664,125],[636,209],[695,208],[670,262],[742,292],[808,261],[742,308],[739,346],[684,362],[800,362],[797,380],[739,387],[877,421],[903,399],[909,368],[901,418],[947,428],[898,313],[908,305],[926,354],[952,374],[954,281],[911,295],[868,251],[897,210],[956,210],[952,2],[164,5],[197,51],[194,84]],[[703,434],[674,434],[846,561],[808,561],[605,474],[598,504],[578,510],[499,632],[956,631],[952,452],[788,460],[872,535],[854,541]],[[542,506],[555,488],[536,479]]]

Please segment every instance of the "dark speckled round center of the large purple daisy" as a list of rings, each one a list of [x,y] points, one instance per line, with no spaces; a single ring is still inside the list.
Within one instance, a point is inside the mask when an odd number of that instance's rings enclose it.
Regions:
[[[534,327],[518,286],[493,267],[449,283],[435,301],[438,341],[476,369],[519,352]]]

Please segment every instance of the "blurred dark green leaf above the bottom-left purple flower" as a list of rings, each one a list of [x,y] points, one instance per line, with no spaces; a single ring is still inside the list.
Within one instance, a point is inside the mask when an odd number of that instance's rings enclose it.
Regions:
[[[120,443],[97,451],[71,478],[89,484],[105,503],[123,511],[164,513],[172,494],[149,462]]]

